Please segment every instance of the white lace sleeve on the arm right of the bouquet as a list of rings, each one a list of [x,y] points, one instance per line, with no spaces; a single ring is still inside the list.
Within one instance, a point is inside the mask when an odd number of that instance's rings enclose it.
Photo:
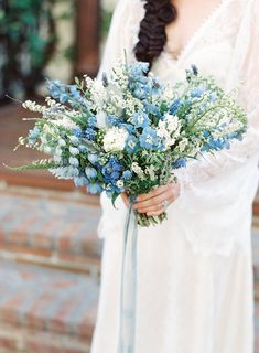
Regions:
[[[256,6],[253,7],[253,4]],[[255,9],[257,8],[257,9]],[[229,150],[216,152],[214,156],[205,153],[198,160],[192,161],[186,168],[176,171],[181,185],[181,194],[211,178],[217,178],[227,170],[244,165],[259,152],[259,24],[257,22],[258,1],[250,1],[240,25],[234,51],[231,65],[233,74],[229,79],[235,85],[240,83],[237,97],[247,111],[249,127],[242,141],[233,141]],[[229,84],[230,85],[230,84]]]

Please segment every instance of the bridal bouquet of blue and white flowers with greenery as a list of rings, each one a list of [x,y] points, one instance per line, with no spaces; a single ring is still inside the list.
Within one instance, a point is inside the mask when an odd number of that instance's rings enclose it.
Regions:
[[[190,159],[229,149],[233,139],[241,139],[246,114],[212,77],[193,66],[184,82],[163,85],[148,68],[148,63],[125,61],[102,81],[47,82],[45,105],[23,104],[41,117],[19,145],[51,158],[18,169],[47,169],[76,186],[86,185],[89,193],[105,191],[115,202],[125,191],[133,202],[174,182],[174,170]],[[149,226],[165,213],[137,216],[139,225]]]

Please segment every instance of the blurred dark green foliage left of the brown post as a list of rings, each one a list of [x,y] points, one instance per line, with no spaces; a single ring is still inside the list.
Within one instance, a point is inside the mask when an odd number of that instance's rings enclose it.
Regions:
[[[73,11],[75,0],[0,1],[0,100],[6,94],[15,97],[18,92],[31,96],[44,78],[58,40],[56,21],[72,14],[68,11],[55,18],[53,7],[61,1],[71,4]],[[72,51],[67,51],[67,57],[72,57]]]

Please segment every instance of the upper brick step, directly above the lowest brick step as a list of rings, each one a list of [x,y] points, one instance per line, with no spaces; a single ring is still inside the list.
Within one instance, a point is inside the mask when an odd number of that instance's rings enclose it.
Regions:
[[[98,272],[96,197],[79,192],[2,188],[0,258]]]

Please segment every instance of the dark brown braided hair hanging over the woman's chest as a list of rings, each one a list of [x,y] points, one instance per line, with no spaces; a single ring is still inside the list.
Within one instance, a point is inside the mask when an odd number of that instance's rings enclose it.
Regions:
[[[140,22],[139,41],[134,46],[138,61],[150,63],[160,55],[166,42],[165,25],[176,19],[172,0],[142,0],[145,2],[144,18]]]

